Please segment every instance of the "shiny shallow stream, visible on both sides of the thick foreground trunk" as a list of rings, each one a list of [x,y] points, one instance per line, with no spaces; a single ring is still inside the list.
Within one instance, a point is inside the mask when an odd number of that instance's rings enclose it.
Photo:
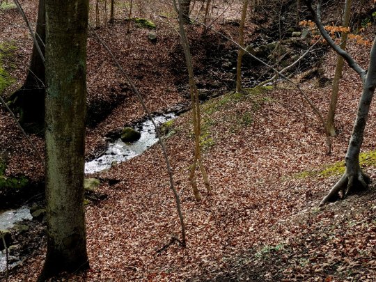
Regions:
[[[153,117],[157,126],[166,123],[169,120],[176,118],[175,113],[166,113],[160,116]],[[150,119],[143,123],[139,123],[134,127],[141,133],[141,138],[134,143],[124,143],[120,138],[108,144],[107,150],[96,159],[85,163],[85,173],[97,173],[110,169],[114,164],[125,162],[138,155],[141,155],[150,146],[157,143],[158,138],[155,134],[155,128]],[[32,219],[29,207],[19,207],[17,210],[0,211],[0,230],[7,230],[12,228],[17,221],[23,219]],[[10,266],[17,265],[17,261]],[[5,251],[0,251],[0,272],[6,269],[6,254]]]

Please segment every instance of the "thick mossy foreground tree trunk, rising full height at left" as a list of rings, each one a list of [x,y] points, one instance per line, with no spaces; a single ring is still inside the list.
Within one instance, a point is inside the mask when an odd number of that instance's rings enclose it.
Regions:
[[[88,267],[84,139],[88,0],[46,0],[47,256],[42,279]]]

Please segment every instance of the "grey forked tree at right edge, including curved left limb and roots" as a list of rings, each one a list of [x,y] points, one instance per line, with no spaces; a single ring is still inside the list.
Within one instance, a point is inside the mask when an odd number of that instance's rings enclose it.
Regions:
[[[352,134],[345,155],[345,173],[343,173],[340,180],[336,182],[334,187],[329,191],[329,194],[321,201],[320,205],[324,205],[325,203],[337,198],[340,191],[343,192],[343,197],[346,197],[356,191],[366,189],[370,183],[370,178],[366,173],[363,173],[359,164],[359,153],[361,150],[361,144],[363,143],[370,103],[376,88],[376,38],[373,41],[373,46],[370,51],[368,70],[363,70],[363,68],[354,61],[354,58],[345,52],[345,50],[341,49],[340,46],[336,45],[327,31],[325,31],[320,16],[321,1],[318,3],[316,11],[313,9],[312,1],[304,1],[311,12],[315,24],[318,26],[321,35],[328,42],[329,46],[334,49],[338,55],[345,59],[350,68],[357,72],[363,82],[363,90],[358,104],[357,118],[354,122],[354,127],[352,129]]]

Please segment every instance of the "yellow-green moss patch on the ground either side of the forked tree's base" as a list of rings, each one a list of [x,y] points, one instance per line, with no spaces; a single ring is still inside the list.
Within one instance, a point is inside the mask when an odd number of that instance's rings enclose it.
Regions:
[[[376,166],[376,150],[369,152],[361,152],[359,155],[359,164],[361,167]],[[313,176],[322,176],[327,178],[333,175],[341,175],[345,173],[345,162],[335,162],[329,166],[324,166],[323,169],[318,171],[302,171],[294,175],[295,178],[307,178]]]

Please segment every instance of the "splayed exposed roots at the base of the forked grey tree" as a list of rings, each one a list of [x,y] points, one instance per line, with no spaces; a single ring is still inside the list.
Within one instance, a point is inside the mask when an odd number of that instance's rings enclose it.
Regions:
[[[346,198],[350,194],[367,189],[370,182],[370,177],[366,173],[363,173],[361,169],[352,175],[349,175],[347,171],[345,171],[336,185],[331,188],[329,194],[322,199],[319,207],[322,207],[322,205],[328,202],[336,201],[338,198]],[[340,191],[342,192],[342,197],[338,195]]]

